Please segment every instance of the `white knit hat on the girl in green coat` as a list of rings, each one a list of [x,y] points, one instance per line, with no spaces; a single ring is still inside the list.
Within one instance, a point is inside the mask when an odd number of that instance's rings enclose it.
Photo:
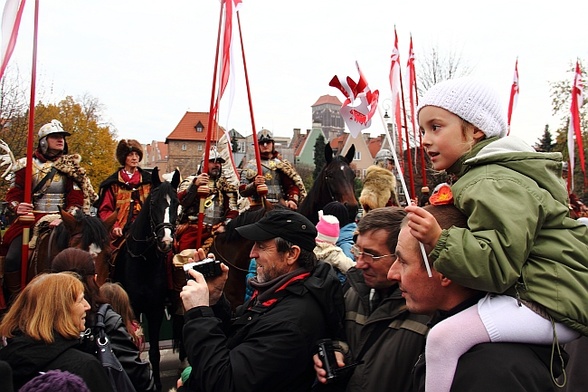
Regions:
[[[486,137],[506,136],[507,122],[496,91],[477,79],[449,79],[431,87],[420,100],[425,106],[445,109],[484,132]]]

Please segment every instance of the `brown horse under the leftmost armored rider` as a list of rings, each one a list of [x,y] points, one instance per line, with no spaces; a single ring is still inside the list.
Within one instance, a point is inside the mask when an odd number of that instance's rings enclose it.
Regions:
[[[53,258],[66,248],[78,248],[92,253],[96,263],[98,284],[108,277],[110,258],[110,237],[108,233],[114,225],[116,216],[102,222],[98,217],[86,215],[81,211],[69,213],[60,210],[62,223],[55,228],[49,220],[37,223],[38,236],[35,248],[29,257],[28,281],[42,272],[51,270]],[[55,217],[58,218],[58,217]]]

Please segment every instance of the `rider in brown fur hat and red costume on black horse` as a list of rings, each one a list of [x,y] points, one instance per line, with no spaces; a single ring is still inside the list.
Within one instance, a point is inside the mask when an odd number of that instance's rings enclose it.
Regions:
[[[97,206],[103,221],[117,213],[112,228],[113,247],[121,245],[130,224],[135,220],[151,191],[151,173],[141,169],[143,159],[141,143],[134,139],[122,139],[116,147],[116,159],[121,167],[100,184]]]

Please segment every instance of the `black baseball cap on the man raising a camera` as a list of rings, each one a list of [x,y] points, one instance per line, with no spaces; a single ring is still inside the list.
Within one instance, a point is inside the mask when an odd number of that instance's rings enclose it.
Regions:
[[[265,214],[259,221],[236,228],[237,232],[251,241],[267,241],[281,237],[309,252],[316,246],[316,228],[304,215],[277,209]]]

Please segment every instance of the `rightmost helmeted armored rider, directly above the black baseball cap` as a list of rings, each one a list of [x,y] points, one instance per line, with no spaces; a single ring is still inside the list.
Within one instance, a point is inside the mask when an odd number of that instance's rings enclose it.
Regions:
[[[300,175],[290,162],[280,157],[275,150],[273,135],[267,129],[257,135],[259,152],[261,155],[261,170],[257,173],[257,161],[250,160],[241,176],[239,192],[243,197],[249,197],[251,209],[261,208],[261,197],[258,186],[267,186],[267,201],[272,204],[282,204],[291,210],[297,210],[298,205],[306,196],[306,189]]]

